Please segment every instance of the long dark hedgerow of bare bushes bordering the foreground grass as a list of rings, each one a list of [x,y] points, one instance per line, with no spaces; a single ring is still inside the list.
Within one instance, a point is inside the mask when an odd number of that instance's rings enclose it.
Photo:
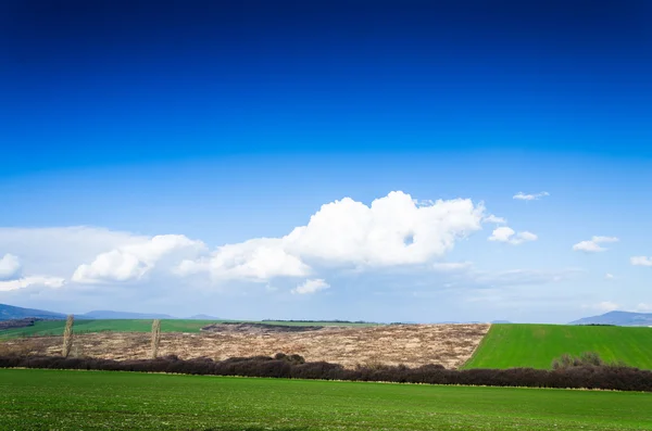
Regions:
[[[286,356],[284,354],[277,354],[275,357],[241,357],[221,362],[210,358],[183,360],[174,355],[156,359],[121,362],[59,356],[0,357],[0,368],[16,367],[652,392],[652,371],[613,365],[569,366],[554,370],[532,368],[451,370],[441,365],[425,365],[416,368],[359,366],[354,369],[347,369],[341,365],[325,362],[304,363],[299,355]]]

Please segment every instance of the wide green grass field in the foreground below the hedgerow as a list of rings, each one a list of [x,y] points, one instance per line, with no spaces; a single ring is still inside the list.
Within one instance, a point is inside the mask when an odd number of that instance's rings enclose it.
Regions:
[[[652,430],[652,394],[0,370],[7,430]]]

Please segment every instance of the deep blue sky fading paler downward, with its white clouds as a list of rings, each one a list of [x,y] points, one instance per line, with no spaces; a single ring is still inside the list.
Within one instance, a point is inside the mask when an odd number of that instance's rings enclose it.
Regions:
[[[0,302],[652,309],[649,2],[190,3],[0,7]]]

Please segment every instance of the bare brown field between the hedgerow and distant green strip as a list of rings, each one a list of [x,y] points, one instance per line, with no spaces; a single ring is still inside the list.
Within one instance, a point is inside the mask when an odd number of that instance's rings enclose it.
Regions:
[[[326,327],[301,332],[260,332],[256,328],[244,332],[162,333],[159,355],[222,360],[229,357],[272,356],[283,352],[299,354],[306,362],[326,360],[344,367],[358,364],[441,364],[447,368],[457,368],[471,357],[488,330],[489,325],[389,325],[368,328]],[[34,353],[61,354],[61,337],[41,337],[38,340],[40,347]],[[27,341],[12,340],[11,343],[17,347],[16,344]],[[77,334],[72,355],[110,359],[148,358],[150,334]]]

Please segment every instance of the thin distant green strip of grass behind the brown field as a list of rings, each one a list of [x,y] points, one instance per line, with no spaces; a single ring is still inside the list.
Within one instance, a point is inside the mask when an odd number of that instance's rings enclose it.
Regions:
[[[199,332],[202,327],[211,324],[234,322],[234,320],[191,320],[191,319],[165,319],[161,320],[161,332]],[[256,321],[252,321],[256,322]],[[373,324],[321,324],[321,322],[287,322],[264,321],[266,325],[287,326],[369,326]],[[63,335],[65,320],[37,321],[34,326],[25,328],[5,329],[0,331],[0,339],[32,335]],[[75,333],[88,332],[151,332],[151,319],[98,319],[75,320]]]

